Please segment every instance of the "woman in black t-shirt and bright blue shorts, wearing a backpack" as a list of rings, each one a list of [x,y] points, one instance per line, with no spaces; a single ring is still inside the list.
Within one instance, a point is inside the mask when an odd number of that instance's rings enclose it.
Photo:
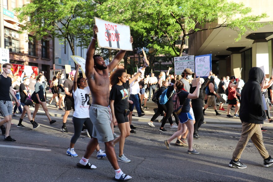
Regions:
[[[172,140],[177,138],[180,135],[184,135],[184,133],[187,131],[187,128],[189,130],[188,133],[188,153],[189,154],[199,154],[195,149],[192,148],[192,141],[193,141],[193,132],[194,132],[194,120],[192,116],[190,115],[190,99],[197,99],[199,96],[199,90],[201,86],[201,82],[199,81],[197,83],[197,87],[195,91],[190,94],[184,89],[184,84],[182,81],[177,81],[174,84],[174,88],[177,90],[177,95],[179,98],[179,102],[181,105],[183,105],[183,108],[181,110],[181,113],[178,115],[180,120],[180,126],[178,127],[177,132],[175,132],[168,140],[165,140],[165,145],[169,149],[169,144]],[[185,101],[186,100],[186,101]],[[185,102],[185,104],[183,104]]]

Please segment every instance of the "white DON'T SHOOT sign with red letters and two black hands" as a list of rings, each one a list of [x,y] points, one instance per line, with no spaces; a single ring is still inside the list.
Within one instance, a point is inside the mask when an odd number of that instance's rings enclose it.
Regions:
[[[122,24],[115,24],[95,17],[95,24],[98,27],[97,41],[99,47],[108,49],[132,51],[130,42],[130,27]]]

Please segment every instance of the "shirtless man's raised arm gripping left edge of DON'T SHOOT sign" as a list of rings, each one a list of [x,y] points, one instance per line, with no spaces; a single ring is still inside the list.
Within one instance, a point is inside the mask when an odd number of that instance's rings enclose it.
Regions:
[[[93,55],[95,53],[95,45],[96,45],[96,40],[97,40],[97,33],[98,32],[98,27],[94,25],[93,27],[93,38],[92,41],[90,42],[87,53],[86,53],[86,63],[85,63],[85,74],[87,77],[90,76],[91,73],[94,71],[94,59]]]

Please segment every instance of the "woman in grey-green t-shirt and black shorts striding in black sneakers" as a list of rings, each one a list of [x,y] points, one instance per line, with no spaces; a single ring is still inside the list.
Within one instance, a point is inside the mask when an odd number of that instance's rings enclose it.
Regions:
[[[45,76],[44,75],[39,75],[37,77],[37,83],[35,84],[35,97],[34,97],[34,102],[35,102],[35,109],[33,112],[33,120],[35,119],[36,113],[38,112],[38,109],[40,107],[40,104],[43,107],[43,110],[45,111],[47,118],[49,119],[49,124],[53,124],[56,122],[56,120],[51,120],[49,112],[47,110],[47,102],[44,96],[45,93],[45,84],[43,83],[45,81]]]

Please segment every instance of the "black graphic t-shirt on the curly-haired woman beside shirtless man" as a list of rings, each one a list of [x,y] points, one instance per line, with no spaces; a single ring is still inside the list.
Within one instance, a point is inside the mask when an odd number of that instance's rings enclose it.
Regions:
[[[130,84],[126,81],[122,85],[113,85],[110,91],[110,100],[114,100],[115,112],[123,113],[127,109],[128,91]]]

